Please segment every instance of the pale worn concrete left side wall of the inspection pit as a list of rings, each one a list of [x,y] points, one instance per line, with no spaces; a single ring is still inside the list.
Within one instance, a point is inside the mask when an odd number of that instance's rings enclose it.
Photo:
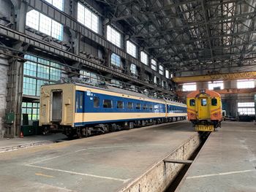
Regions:
[[[171,181],[184,166],[183,164],[165,163],[165,159],[187,160],[199,147],[200,137],[197,133],[187,139],[176,150],[173,150],[147,172],[133,180],[119,192],[165,191]]]

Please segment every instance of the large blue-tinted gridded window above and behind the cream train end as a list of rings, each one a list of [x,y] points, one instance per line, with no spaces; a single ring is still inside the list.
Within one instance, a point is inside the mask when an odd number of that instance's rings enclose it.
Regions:
[[[23,94],[39,96],[41,85],[61,79],[61,65],[53,61],[24,55],[29,60],[23,64]]]

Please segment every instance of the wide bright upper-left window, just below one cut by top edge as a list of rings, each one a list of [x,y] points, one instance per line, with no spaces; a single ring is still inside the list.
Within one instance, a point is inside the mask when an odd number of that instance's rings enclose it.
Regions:
[[[26,26],[61,41],[63,39],[63,26],[34,9],[26,13]]]

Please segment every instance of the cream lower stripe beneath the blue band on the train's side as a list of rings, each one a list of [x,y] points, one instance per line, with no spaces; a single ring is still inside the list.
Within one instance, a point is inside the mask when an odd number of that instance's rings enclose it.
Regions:
[[[168,117],[187,116],[187,113],[169,113]],[[165,118],[165,113],[154,112],[85,112],[75,113],[75,123],[103,120]]]

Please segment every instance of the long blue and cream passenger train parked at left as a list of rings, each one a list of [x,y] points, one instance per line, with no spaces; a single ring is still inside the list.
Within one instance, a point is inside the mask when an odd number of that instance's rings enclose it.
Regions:
[[[49,129],[61,128],[68,137],[166,123],[186,117],[186,104],[152,99],[112,86],[99,88],[63,83],[41,87],[39,125]]]

